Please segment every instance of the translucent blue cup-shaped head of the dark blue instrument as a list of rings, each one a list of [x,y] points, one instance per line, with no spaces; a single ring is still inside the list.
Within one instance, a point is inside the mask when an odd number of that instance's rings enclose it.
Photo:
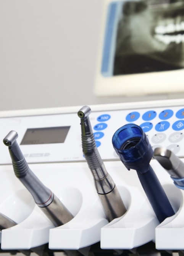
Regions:
[[[113,147],[129,169],[145,172],[153,156],[153,149],[140,126],[126,124],[112,138]]]

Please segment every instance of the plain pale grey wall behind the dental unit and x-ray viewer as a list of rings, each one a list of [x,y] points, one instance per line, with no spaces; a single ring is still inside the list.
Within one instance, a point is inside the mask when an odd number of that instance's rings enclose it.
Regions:
[[[97,97],[103,0],[0,0],[0,111],[184,98]]]

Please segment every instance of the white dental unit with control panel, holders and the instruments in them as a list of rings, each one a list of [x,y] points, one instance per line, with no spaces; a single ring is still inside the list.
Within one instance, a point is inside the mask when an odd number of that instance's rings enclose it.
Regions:
[[[135,140],[128,137],[124,147],[119,144],[123,135],[116,131],[120,127],[124,131],[127,125],[136,135]],[[117,250],[138,248],[150,241],[156,249],[184,250],[184,190],[176,186],[183,181],[174,183],[173,173],[166,172],[168,159],[175,159],[173,168],[178,170],[179,165],[179,178],[184,178],[184,99],[3,111],[0,127],[0,214],[15,223],[2,228],[3,250],[46,243],[52,250],[78,250],[97,242],[102,249]],[[144,181],[136,157],[126,151],[136,148],[134,142],[139,144],[142,134],[148,145],[144,150],[150,150]],[[127,164],[126,156],[121,158],[122,150],[135,168]],[[140,157],[141,150],[137,152]],[[19,164],[22,160],[26,161],[24,167]],[[140,166],[143,168],[142,162]],[[155,187],[147,183],[147,170],[155,177],[149,182],[158,180]],[[43,200],[42,192],[42,196],[35,194],[42,186],[48,195]],[[160,219],[156,208],[162,199],[154,199],[158,193],[160,198],[163,193],[162,210],[167,212]],[[56,224],[49,217],[58,210],[58,203],[49,201],[52,197],[65,208],[63,213],[61,207],[61,215],[69,216],[66,221]],[[39,200],[44,207],[52,205],[49,214],[41,209]]]

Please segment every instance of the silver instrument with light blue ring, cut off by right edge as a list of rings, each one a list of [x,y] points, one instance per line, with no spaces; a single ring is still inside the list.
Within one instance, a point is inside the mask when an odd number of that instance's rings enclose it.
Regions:
[[[184,189],[184,163],[171,150],[162,147],[154,150],[153,157],[169,173],[174,185]]]

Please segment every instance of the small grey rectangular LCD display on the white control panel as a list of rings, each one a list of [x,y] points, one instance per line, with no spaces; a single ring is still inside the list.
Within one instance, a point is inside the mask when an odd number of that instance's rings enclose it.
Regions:
[[[27,129],[21,145],[64,143],[69,128],[70,126]]]

